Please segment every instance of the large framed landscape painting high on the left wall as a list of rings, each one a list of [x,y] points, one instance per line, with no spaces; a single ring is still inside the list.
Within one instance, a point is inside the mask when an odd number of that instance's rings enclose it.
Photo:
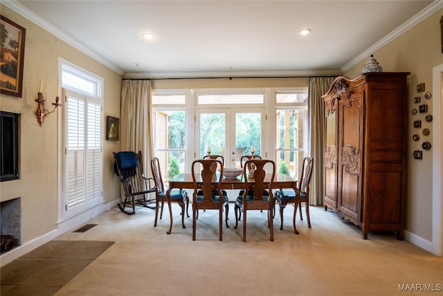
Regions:
[[[26,29],[0,15],[0,92],[21,98]]]

